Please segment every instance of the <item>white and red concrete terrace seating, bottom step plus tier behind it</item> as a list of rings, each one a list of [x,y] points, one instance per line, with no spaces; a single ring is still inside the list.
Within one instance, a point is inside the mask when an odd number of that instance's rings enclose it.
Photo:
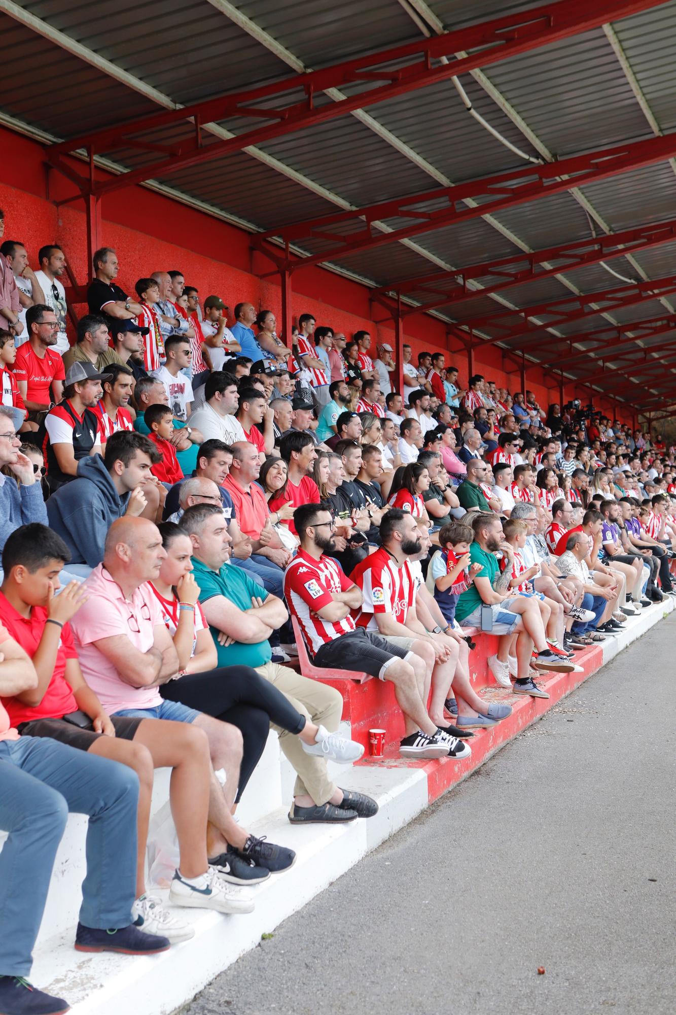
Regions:
[[[289,871],[273,875],[255,888],[256,910],[246,917],[221,917],[201,910],[183,910],[195,926],[195,938],[153,958],[121,955],[83,956],[72,949],[80,884],[84,876],[85,821],[70,816],[60,845],[50,887],[45,919],[35,953],[31,978],[42,988],[67,996],[75,1015],[118,1015],[125,1008],[143,1015],[166,1015],[188,1001],[218,971],[260,941],[286,917],[300,908],[319,891],[348,870],[368,851],[413,819],[429,803],[541,718],[579,683],[609,662],[618,652],[644,634],[676,604],[668,599],[630,618],[616,637],[576,653],[581,674],[544,674],[548,701],[517,697],[497,687],[487,668],[495,652],[496,637],[469,631],[476,641],[470,654],[472,681],[491,700],[509,700],[513,715],[491,730],[479,731],[472,739],[472,755],[463,761],[402,759],[397,754],[403,733],[401,713],[390,684],[360,679],[347,671],[324,671],[309,664],[307,653],[301,672],[326,681],[340,690],[343,700],[342,732],[363,743],[366,753],[350,768],[331,767],[338,785],[368,793],[378,800],[380,812],[367,821],[345,826],[291,825],[286,818],[294,772],[271,733],[245,799],[238,810],[243,824],[255,834],[295,850],[297,860]],[[296,636],[300,638],[299,632]],[[306,668],[308,666],[308,668]],[[365,675],[361,675],[362,677]],[[368,756],[368,729],[387,730],[383,759]],[[167,769],[155,772],[153,815],[168,799]],[[4,836],[0,835],[0,844]],[[154,890],[154,889],[153,889]],[[160,894],[162,892],[160,891]]]

